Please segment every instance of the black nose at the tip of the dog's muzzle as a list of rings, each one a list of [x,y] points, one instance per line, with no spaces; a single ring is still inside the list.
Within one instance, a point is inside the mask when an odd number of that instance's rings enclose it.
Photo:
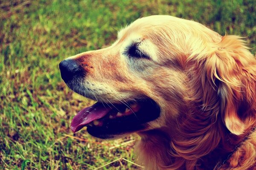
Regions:
[[[75,76],[82,74],[82,69],[79,64],[73,59],[64,59],[59,64],[61,70],[61,78],[64,82],[68,82],[73,79]]]

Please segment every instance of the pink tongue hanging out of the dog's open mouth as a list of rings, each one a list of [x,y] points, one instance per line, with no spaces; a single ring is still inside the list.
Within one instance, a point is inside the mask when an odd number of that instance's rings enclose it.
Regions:
[[[84,108],[72,119],[70,126],[71,130],[75,133],[88,123],[93,122],[93,120],[104,117],[109,111],[111,111],[111,108],[109,106],[104,106],[100,102],[97,102],[88,108]]]

